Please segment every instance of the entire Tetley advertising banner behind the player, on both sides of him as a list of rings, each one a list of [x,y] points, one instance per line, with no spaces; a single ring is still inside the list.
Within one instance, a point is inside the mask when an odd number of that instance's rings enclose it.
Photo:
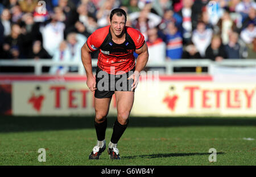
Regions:
[[[14,82],[14,115],[94,115],[84,82]],[[110,115],[116,115],[115,98]],[[255,83],[140,82],[131,116],[256,116]]]

